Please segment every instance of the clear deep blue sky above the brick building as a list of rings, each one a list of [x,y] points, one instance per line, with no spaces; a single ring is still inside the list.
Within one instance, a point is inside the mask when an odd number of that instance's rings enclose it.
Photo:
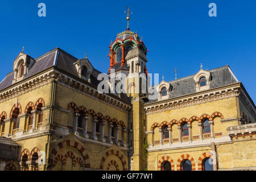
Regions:
[[[46,17],[38,4],[46,3]],[[208,5],[217,5],[209,17]],[[109,69],[110,41],[126,29],[124,11],[129,5],[130,30],[143,36],[148,72],[164,80],[193,75],[228,64],[256,101],[256,1],[13,1],[0,2],[1,80],[12,71],[15,57],[36,58],[60,47],[81,59],[88,53],[93,66]]]

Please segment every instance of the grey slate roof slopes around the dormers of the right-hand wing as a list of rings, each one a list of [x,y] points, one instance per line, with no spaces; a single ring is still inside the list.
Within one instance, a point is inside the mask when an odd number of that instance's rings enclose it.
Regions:
[[[228,65],[216,69],[211,69],[209,70],[209,72],[211,75],[210,89],[238,82],[237,78],[234,76],[233,72],[231,71]],[[196,82],[193,79],[193,76],[195,75],[169,81],[171,84],[170,98],[196,93]],[[156,101],[158,100],[149,100],[147,102],[151,103]]]

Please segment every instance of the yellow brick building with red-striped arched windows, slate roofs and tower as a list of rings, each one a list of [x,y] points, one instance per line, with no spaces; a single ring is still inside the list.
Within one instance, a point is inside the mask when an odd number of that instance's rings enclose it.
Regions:
[[[129,28],[110,45],[108,76],[126,75],[127,94],[99,92],[88,57],[20,52],[0,83],[0,134],[20,146],[15,169],[255,169],[255,105],[229,66],[163,80],[151,100],[147,52]]]

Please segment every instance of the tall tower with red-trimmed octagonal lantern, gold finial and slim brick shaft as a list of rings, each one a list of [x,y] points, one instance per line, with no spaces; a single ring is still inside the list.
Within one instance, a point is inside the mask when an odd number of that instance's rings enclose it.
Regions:
[[[127,29],[119,34],[110,45],[110,73],[124,73],[126,78],[127,95],[131,97],[133,111],[131,123],[133,133],[131,134],[131,145],[133,151],[130,155],[131,170],[144,170],[146,168],[146,155],[143,148],[146,140],[146,115],[144,113],[144,99],[147,97],[147,48],[137,32],[129,29],[129,8],[127,8]]]

